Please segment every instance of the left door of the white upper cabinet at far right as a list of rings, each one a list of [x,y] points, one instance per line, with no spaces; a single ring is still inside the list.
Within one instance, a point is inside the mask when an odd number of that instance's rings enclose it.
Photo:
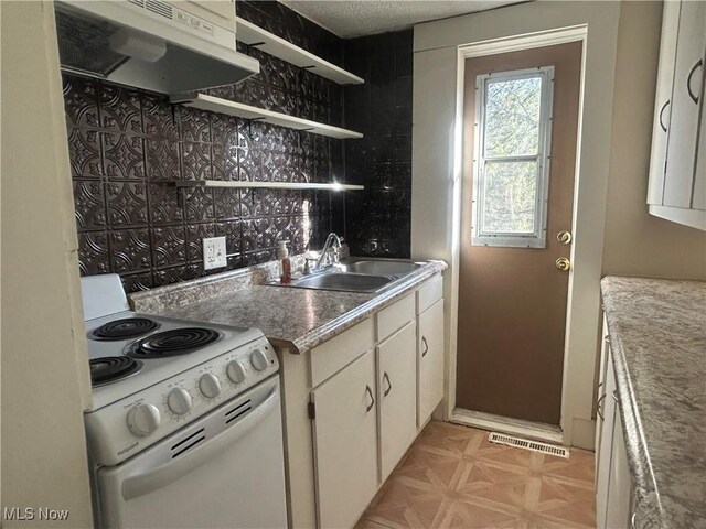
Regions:
[[[670,115],[672,114],[672,86],[674,84],[674,63],[676,61],[676,33],[680,28],[680,6],[681,2],[664,2],[662,14],[662,40],[660,43],[657,90],[654,100],[654,120],[652,123],[648,204],[662,205],[662,196],[664,194],[664,165],[666,163]]]

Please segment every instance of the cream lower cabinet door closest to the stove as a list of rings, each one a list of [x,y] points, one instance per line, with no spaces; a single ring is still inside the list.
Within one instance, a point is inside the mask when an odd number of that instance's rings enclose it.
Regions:
[[[311,395],[319,527],[353,527],[377,490],[373,350]]]

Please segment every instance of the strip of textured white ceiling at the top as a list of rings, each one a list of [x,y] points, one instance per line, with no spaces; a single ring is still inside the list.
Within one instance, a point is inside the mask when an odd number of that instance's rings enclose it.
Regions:
[[[523,0],[280,0],[343,39],[411,28],[419,22],[520,3]]]

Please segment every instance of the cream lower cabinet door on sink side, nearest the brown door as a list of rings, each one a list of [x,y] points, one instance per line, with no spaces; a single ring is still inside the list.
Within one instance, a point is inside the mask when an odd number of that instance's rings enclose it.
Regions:
[[[443,299],[419,314],[417,425],[421,427],[443,398]]]

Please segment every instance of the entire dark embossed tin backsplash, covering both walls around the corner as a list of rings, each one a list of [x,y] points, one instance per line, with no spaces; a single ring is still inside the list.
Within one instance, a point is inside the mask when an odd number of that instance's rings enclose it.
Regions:
[[[82,274],[119,273],[128,292],[197,278],[206,273],[202,238],[214,236],[226,237],[228,270],[275,259],[278,239],[291,240],[295,253],[318,249],[331,229],[345,233],[355,255],[409,256],[411,31],[342,41],[278,2],[238,1],[237,9],[366,84],[343,88],[239,44],[260,61],[260,74],[208,93],[366,138],[334,140],[247,122],[65,75]],[[344,198],[192,188],[180,206],[169,182],[205,179],[335,179],[367,190]]]

